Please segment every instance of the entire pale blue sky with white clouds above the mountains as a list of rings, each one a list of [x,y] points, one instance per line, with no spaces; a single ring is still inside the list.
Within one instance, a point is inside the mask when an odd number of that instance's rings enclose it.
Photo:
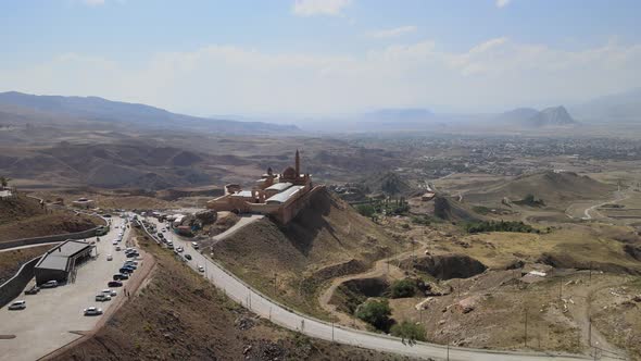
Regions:
[[[194,115],[495,112],[641,86],[638,0],[0,0],[0,91]]]

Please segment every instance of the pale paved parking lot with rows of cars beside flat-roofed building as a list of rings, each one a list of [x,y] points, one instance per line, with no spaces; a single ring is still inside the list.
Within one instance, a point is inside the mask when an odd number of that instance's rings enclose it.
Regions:
[[[37,295],[27,296],[23,292],[17,299],[26,300],[25,310],[9,311],[7,307],[0,309],[0,335],[15,335],[15,338],[0,339],[0,360],[36,360],[68,344],[80,337],[74,332],[90,331],[103,316],[85,316],[85,308],[96,306],[106,312],[118,298],[125,297],[127,281],[124,282],[124,287],[112,288],[118,292],[115,299],[95,301],[96,295],[108,288],[108,282],[112,281],[113,274],[118,273],[118,269],[127,260],[125,253],[115,251],[115,246],[112,245],[123,226],[123,219],[112,219],[110,233],[96,242],[98,258],[77,267],[75,283],[41,289]],[[126,229],[120,244],[123,250],[128,238],[129,229]],[[106,261],[108,254],[113,256],[112,261]],[[34,281],[27,288],[33,284]]]

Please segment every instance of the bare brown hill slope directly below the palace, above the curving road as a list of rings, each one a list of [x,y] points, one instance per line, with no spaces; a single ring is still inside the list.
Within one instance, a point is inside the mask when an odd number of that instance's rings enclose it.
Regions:
[[[286,227],[263,220],[215,245],[213,251],[263,292],[323,316],[315,297],[319,284],[364,271],[392,247],[395,241],[376,224],[323,191]]]

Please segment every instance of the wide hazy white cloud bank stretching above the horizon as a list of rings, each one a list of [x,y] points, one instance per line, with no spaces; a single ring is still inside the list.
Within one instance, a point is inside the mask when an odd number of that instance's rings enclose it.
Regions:
[[[1,90],[95,95],[200,114],[357,112],[447,105],[557,104],[638,87],[641,43],[563,50],[488,39],[466,51],[435,41],[360,54],[267,53],[235,46],[158,53],[142,65],[64,54],[0,70]]]

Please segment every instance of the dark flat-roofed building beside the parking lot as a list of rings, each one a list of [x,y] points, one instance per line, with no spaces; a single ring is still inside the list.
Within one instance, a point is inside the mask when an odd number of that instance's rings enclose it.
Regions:
[[[34,269],[36,284],[67,282],[74,269],[90,258],[93,247],[86,241],[70,239],[49,250]]]

